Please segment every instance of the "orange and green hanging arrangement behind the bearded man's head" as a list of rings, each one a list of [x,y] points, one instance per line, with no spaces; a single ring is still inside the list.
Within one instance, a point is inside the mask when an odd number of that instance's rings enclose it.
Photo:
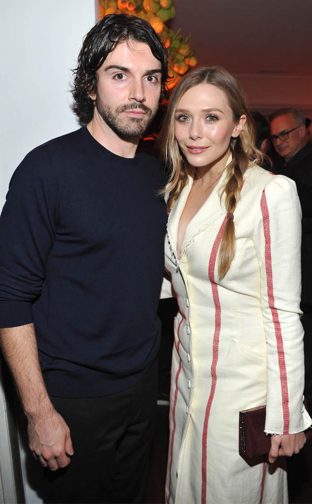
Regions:
[[[160,35],[169,54],[169,89],[175,86],[190,67],[197,64],[189,37],[183,37],[179,30],[175,32],[165,25],[175,16],[173,0],[99,0],[99,19],[117,12],[145,19]]]

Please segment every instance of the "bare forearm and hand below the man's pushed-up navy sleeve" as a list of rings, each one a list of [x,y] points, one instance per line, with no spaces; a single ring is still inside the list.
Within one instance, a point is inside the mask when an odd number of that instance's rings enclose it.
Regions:
[[[28,419],[30,450],[51,471],[66,467],[74,454],[70,429],[46,391],[33,324],[1,329],[0,341]]]

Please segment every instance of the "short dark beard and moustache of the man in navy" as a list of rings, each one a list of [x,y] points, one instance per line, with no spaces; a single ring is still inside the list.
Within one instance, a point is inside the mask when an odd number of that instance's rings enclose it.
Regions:
[[[143,103],[130,103],[129,105],[119,105],[115,110],[104,103],[101,98],[96,97],[96,108],[103,121],[118,135],[118,137],[141,137],[152,122],[157,109],[152,110]],[[126,110],[141,109],[145,112],[143,117],[130,117],[122,112]],[[122,116],[123,115],[123,116]]]

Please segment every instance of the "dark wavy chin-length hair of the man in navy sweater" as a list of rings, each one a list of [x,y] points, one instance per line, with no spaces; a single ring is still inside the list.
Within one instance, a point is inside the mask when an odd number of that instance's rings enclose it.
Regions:
[[[77,68],[73,70],[75,99],[73,107],[81,124],[93,117],[94,103],[89,93],[97,91],[97,71],[109,52],[123,41],[145,42],[153,55],[161,62],[161,98],[167,96],[165,82],[168,75],[168,53],[159,35],[147,21],[128,14],[104,16],[85,36],[78,56]]]

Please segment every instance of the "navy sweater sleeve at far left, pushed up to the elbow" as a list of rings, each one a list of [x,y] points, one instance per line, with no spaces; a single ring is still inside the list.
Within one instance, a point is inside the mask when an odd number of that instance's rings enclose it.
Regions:
[[[50,157],[31,151],[14,172],[0,218],[0,327],[32,322],[53,247],[58,187]]]

